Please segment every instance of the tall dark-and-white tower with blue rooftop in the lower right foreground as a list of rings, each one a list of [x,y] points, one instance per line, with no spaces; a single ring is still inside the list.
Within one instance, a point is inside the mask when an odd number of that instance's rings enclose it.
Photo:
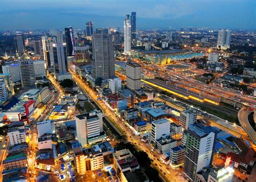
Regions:
[[[187,130],[187,143],[184,174],[194,181],[198,171],[212,164],[216,141],[216,130],[211,126],[190,124]]]

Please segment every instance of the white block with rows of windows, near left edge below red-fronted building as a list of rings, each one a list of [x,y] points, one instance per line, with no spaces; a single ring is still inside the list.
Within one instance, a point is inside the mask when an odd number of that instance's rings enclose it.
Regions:
[[[24,124],[21,122],[16,123],[17,122],[9,124],[9,129],[7,132],[11,146],[26,142],[26,131]]]

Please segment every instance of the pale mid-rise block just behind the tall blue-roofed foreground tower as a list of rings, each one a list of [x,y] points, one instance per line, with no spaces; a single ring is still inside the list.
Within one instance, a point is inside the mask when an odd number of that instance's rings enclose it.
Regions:
[[[194,124],[197,121],[197,113],[195,110],[186,109],[180,113],[179,123],[181,127],[187,130],[188,125]]]

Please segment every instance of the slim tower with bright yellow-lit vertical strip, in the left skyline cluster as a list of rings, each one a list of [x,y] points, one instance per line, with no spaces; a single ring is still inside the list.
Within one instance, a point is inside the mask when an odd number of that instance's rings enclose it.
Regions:
[[[51,51],[51,44],[55,42],[56,40],[53,39],[52,37],[48,37],[48,36],[42,37],[43,54],[44,54],[44,60],[46,62],[47,68],[53,65],[53,58],[51,57],[50,51]]]

